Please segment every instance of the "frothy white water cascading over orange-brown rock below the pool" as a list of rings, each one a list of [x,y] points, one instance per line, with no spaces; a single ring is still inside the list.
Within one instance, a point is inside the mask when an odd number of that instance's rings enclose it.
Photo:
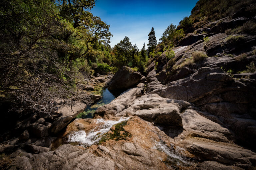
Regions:
[[[100,136],[104,133],[107,133],[110,128],[117,124],[121,123],[122,121],[128,120],[130,117],[122,117],[119,120],[104,120],[104,119],[97,119],[97,126],[92,129],[89,133],[86,134],[84,130],[80,130],[77,132],[72,132],[68,136],[67,142],[79,142],[81,145],[85,147],[91,146],[100,141]]]

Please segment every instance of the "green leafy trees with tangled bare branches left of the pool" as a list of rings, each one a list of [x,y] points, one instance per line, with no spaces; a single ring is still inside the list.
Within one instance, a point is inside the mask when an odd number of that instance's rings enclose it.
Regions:
[[[75,85],[90,72],[89,53],[111,57],[92,46],[112,36],[109,25],[88,11],[94,5],[94,0],[0,2],[1,100],[18,112],[49,114],[56,98],[90,103]]]

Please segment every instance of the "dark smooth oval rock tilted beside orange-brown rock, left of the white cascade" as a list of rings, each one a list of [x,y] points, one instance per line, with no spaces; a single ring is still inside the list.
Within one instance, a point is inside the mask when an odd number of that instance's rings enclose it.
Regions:
[[[68,125],[68,123],[73,119],[72,116],[61,116],[56,119],[54,119],[54,122],[52,123],[52,126],[50,128],[50,133],[57,134],[59,131],[61,131],[65,126]]]

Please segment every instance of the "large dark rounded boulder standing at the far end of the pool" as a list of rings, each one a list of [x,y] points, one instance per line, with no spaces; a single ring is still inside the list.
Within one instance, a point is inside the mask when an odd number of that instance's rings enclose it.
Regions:
[[[142,75],[134,72],[131,68],[123,66],[111,79],[108,89],[127,89],[140,82]]]

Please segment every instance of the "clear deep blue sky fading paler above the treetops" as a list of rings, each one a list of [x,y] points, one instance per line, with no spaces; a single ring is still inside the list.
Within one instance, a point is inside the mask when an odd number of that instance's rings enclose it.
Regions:
[[[125,36],[139,49],[148,43],[148,33],[154,27],[157,41],[164,30],[189,16],[198,0],[96,0],[91,9],[94,16],[110,25],[111,46]]]

